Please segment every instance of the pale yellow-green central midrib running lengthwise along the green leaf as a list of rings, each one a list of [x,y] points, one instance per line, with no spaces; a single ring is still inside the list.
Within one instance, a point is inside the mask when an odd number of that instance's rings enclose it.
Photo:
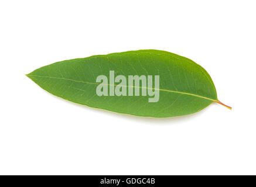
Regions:
[[[100,85],[102,83],[98,83],[98,82],[86,82],[86,81],[78,81],[78,80],[74,80],[74,79],[69,79],[69,78],[60,78],[60,77],[49,77],[49,76],[40,76],[40,75],[27,75],[28,77],[42,77],[42,78],[53,78],[53,79],[64,79],[64,80],[67,80],[67,81],[73,81],[73,82],[81,82],[81,83],[85,83],[85,84],[95,84],[95,85]],[[103,85],[108,85],[108,86],[117,86],[116,84],[112,85],[112,84],[103,84]],[[124,87],[132,87],[132,88],[145,88],[145,89],[148,89],[146,87],[143,87],[143,86],[127,86],[127,85],[121,85],[121,86],[124,86]],[[149,88],[149,89],[153,89],[153,88]],[[156,89],[156,88],[154,88]],[[164,91],[164,92],[173,92],[173,93],[180,93],[180,94],[185,94],[185,95],[192,95],[192,96],[196,96],[198,98],[203,98],[203,99],[207,99],[207,100],[210,100],[210,101],[213,101],[213,102],[218,102],[217,100],[215,99],[211,99],[211,98],[206,98],[204,96],[201,96],[201,95],[196,95],[196,94],[193,94],[193,93],[186,93],[186,92],[180,92],[180,91],[172,91],[172,90],[168,90],[168,89],[156,89],[156,90],[159,90],[159,91]]]

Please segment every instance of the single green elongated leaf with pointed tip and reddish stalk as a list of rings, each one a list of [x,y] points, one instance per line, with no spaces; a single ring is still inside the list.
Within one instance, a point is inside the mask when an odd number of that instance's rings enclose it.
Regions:
[[[111,82],[111,72],[115,78],[124,75],[127,82],[123,80],[122,86],[118,86],[118,81]],[[99,75],[108,78],[107,84],[103,80],[96,82]],[[153,86],[150,86],[149,79],[146,85],[142,81],[139,86],[135,83],[129,85],[129,75],[145,75],[146,78],[152,75]],[[159,88],[156,75],[159,75]],[[218,101],[213,81],[204,68],[167,51],[138,50],[77,58],[46,65],[27,76],[60,98],[135,116],[182,116],[198,112],[213,102],[224,105]],[[108,96],[99,96],[97,88]],[[118,96],[118,90],[123,95]],[[135,90],[139,90],[139,96],[135,96]],[[146,95],[142,95],[144,91]],[[154,98],[152,92],[155,92],[156,99],[149,102],[149,98]]]

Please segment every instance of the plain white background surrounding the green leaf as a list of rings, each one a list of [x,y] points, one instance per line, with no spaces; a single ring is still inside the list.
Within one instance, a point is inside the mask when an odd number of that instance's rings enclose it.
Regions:
[[[255,1],[1,1],[0,174],[256,174]],[[202,65],[221,102],[152,119],[88,108],[25,74],[158,49]]]

